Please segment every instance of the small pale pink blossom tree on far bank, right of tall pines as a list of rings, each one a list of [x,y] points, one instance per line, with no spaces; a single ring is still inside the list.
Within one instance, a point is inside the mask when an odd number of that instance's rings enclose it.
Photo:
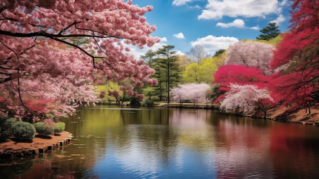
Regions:
[[[172,99],[180,103],[180,105],[182,105],[184,100],[191,100],[194,106],[198,103],[207,103],[206,91],[208,88],[209,85],[206,83],[178,85],[171,90]]]

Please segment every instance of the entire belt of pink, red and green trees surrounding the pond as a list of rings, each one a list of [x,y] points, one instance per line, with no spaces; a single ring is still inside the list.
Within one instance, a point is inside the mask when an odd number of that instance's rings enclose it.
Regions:
[[[137,60],[126,44],[142,48],[159,42],[150,35],[156,27],[143,16],[151,6],[3,0],[0,134],[12,127],[61,131],[59,116],[111,100],[218,103],[221,110],[261,110],[264,117],[270,108],[290,106],[310,114],[318,102],[317,7],[317,1],[294,0],[289,31],[281,33],[270,22],[255,40],[241,40],[212,57],[200,45],[185,56],[164,45]]]

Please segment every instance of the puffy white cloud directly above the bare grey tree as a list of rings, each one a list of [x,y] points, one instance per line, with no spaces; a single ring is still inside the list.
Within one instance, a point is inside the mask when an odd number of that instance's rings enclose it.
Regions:
[[[207,49],[210,55],[214,54],[219,49],[227,49],[229,45],[238,42],[239,40],[235,37],[216,37],[208,35],[203,38],[198,38],[196,41],[192,41],[191,45],[201,45]]]

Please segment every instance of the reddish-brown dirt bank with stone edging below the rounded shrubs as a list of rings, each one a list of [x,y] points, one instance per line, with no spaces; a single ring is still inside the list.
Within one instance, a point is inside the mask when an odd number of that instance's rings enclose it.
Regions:
[[[68,145],[74,136],[66,131],[59,136],[50,135],[50,139],[35,137],[32,142],[15,142],[14,138],[0,143],[0,159],[22,158],[44,154],[48,150],[58,149]]]

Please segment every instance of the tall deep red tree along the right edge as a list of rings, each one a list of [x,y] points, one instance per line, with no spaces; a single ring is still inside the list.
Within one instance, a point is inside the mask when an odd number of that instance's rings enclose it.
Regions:
[[[319,2],[295,0],[290,31],[274,51],[273,68],[286,66],[272,77],[273,97],[285,104],[309,105],[318,91]]]

